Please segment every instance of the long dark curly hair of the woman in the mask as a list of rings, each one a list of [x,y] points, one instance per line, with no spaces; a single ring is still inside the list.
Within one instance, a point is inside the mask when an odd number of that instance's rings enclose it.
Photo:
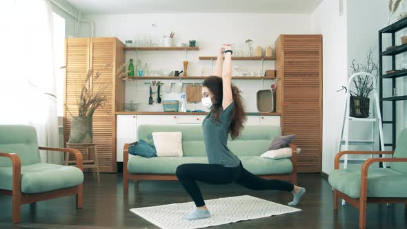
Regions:
[[[214,114],[215,121],[219,121],[220,112],[224,110],[222,107],[222,100],[224,98],[223,81],[221,77],[210,76],[203,81],[203,86],[208,88],[214,97],[212,98],[212,113]],[[232,84],[232,97],[235,102],[235,108],[232,110],[231,123],[228,132],[232,140],[239,137],[241,130],[244,128],[244,123],[247,120],[246,111],[241,97],[241,91],[237,86]]]

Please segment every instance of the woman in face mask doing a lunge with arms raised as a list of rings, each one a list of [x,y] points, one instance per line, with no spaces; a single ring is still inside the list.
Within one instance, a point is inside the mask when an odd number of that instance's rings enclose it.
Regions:
[[[212,184],[235,182],[251,190],[292,192],[294,199],[288,205],[297,205],[301,196],[306,192],[305,188],[285,181],[261,179],[252,175],[227,146],[228,135],[230,134],[232,139],[239,137],[244,127],[244,121],[247,119],[239,89],[232,86],[230,45],[224,45],[221,48],[215,66],[215,76],[203,81],[202,103],[203,106],[210,109],[202,123],[209,164],[186,163],[177,168],[176,174],[179,182],[197,206],[182,219],[195,220],[210,217],[196,181]]]

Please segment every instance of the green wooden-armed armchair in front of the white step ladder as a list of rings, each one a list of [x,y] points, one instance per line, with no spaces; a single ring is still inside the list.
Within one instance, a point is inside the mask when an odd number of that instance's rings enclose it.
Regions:
[[[392,155],[370,158],[361,170],[339,169],[343,155]],[[376,162],[388,162],[390,168],[369,168]],[[395,151],[344,151],[335,157],[335,170],[328,178],[334,188],[334,209],[339,198],[359,209],[359,228],[366,228],[367,203],[405,203],[407,207],[407,129],[397,139]]]

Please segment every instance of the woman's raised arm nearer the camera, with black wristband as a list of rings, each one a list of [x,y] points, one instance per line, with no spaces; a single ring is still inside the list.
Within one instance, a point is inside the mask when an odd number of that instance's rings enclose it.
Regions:
[[[232,50],[232,46],[224,45],[222,50]],[[222,99],[222,107],[226,109],[233,101],[232,97],[232,53],[226,52],[224,54],[224,68],[222,69],[222,81],[224,97]]]

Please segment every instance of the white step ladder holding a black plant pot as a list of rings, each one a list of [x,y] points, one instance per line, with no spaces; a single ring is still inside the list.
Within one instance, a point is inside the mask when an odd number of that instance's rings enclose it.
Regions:
[[[350,117],[350,84],[353,83],[353,79],[355,77],[370,77],[370,79],[373,81],[373,96],[374,96],[374,102],[372,103],[373,105],[373,115],[372,117],[368,118],[355,118],[355,117]],[[359,139],[359,140],[349,140],[349,125],[350,121],[367,121],[372,123],[372,131],[370,135],[370,139]],[[375,78],[373,77],[372,74],[368,72],[358,72],[353,74],[349,80],[348,80],[348,87],[346,91],[346,103],[345,103],[345,111],[344,111],[344,120],[342,122],[342,130],[341,130],[341,138],[339,139],[339,147],[338,147],[338,152],[341,151],[346,151],[348,150],[349,145],[364,145],[364,146],[370,146],[370,149],[373,151],[375,147],[375,127],[377,124],[379,126],[379,138],[380,138],[380,146],[381,150],[384,151],[384,138],[383,138],[383,126],[381,126],[381,113],[380,113],[380,108],[379,108],[379,95],[377,94],[377,87],[376,87],[376,81]],[[370,155],[370,157],[373,157],[374,155]],[[384,157],[384,155],[383,155]],[[344,168],[348,168],[348,162],[350,163],[363,163],[366,159],[349,159],[348,155],[344,155]],[[386,164],[383,164],[384,167],[386,167]],[[342,205],[345,204],[345,201],[342,201]]]

